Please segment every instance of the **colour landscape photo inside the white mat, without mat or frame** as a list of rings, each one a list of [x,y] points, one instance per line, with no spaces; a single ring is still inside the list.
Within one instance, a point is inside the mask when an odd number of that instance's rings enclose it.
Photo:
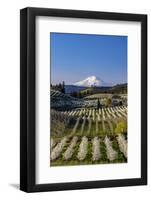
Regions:
[[[127,162],[127,40],[50,33],[50,167]]]

